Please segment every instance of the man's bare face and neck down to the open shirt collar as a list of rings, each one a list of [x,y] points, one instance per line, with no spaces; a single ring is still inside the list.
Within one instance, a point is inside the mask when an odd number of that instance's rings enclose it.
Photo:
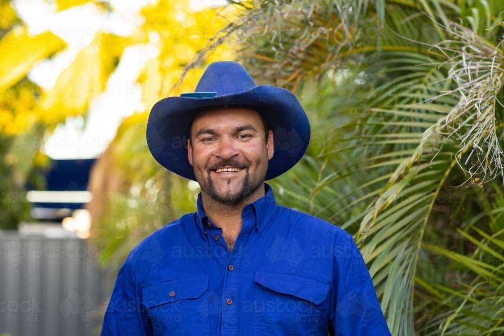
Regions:
[[[222,228],[231,250],[241,229],[236,223],[241,222],[243,206],[264,196],[273,132],[253,109],[213,106],[196,115],[188,142],[188,160],[201,187],[205,214]]]

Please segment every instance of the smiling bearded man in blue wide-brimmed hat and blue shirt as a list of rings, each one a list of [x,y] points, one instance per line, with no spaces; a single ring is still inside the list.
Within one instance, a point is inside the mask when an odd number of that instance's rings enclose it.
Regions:
[[[390,335],[352,236],[277,206],[264,182],[309,137],[296,97],[256,86],[236,62],[211,63],[194,93],[156,103],[149,149],[198,181],[198,211],[133,249],[102,335]]]

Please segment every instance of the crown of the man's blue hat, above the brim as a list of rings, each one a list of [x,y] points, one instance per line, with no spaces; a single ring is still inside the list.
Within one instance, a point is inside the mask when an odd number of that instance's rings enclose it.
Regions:
[[[256,87],[245,68],[234,61],[210,63],[203,73],[195,92],[217,92],[217,96],[243,92]]]

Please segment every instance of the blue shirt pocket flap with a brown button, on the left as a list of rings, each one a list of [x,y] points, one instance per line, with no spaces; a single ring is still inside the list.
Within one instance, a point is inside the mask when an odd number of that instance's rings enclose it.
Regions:
[[[208,276],[169,280],[144,288],[144,305],[152,308],[183,299],[199,298],[208,288]]]

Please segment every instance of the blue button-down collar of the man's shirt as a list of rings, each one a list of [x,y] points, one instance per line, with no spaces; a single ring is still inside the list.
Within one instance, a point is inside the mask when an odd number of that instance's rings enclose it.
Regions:
[[[271,188],[271,185],[269,185],[268,183],[264,183],[264,185],[265,185],[265,195],[256,200],[254,203],[246,205],[243,208],[243,212],[245,212],[245,210],[249,207],[254,209],[256,215],[256,229],[259,233],[261,233],[261,230],[264,228],[268,220],[271,218],[277,206],[277,203],[275,201],[275,195],[273,195],[273,189]],[[208,216],[205,215],[205,212],[203,211],[203,201],[201,198],[201,192],[198,194],[197,206],[198,210],[196,212],[196,220],[201,228],[201,233],[203,237],[207,239],[208,237],[205,235],[205,226],[208,221]]]

